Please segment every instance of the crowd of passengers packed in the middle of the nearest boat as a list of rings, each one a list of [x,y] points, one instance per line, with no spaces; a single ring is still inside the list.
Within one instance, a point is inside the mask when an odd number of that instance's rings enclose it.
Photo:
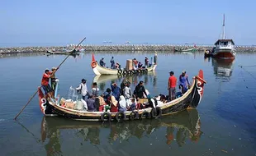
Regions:
[[[86,81],[83,79],[76,90],[78,94],[82,95],[83,102],[86,104],[84,108],[88,112],[105,112],[107,110],[110,110],[110,112],[126,112],[151,107],[151,105],[147,106],[145,103],[140,103],[140,99],[149,98],[149,92],[145,89],[142,80],[135,87],[133,93],[130,89],[130,81],[125,79],[120,87],[113,83],[102,94],[99,94],[100,90],[97,88],[96,82],[93,83],[91,93],[89,93]]]

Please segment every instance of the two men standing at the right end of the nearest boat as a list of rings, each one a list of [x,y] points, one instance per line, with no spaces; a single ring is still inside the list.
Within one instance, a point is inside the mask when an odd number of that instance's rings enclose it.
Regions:
[[[177,78],[174,76],[174,72],[169,72],[170,76],[168,78],[168,100],[176,99],[176,85],[177,85]],[[187,92],[187,89],[190,88],[190,82],[188,80],[188,76],[186,74],[186,71],[183,71],[183,73],[179,76],[178,81],[178,89],[181,89],[181,94],[185,94]]]

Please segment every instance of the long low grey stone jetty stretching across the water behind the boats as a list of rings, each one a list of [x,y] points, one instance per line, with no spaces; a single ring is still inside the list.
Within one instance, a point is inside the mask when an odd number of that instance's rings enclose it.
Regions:
[[[122,45],[83,45],[79,48],[83,48],[88,52],[91,51],[170,51],[173,52],[174,48],[193,48],[193,45],[172,45],[172,44],[122,44]],[[212,46],[197,45],[199,52],[204,52],[205,49],[211,49]],[[73,46],[59,46],[59,47],[15,47],[15,48],[0,48],[0,55],[16,54],[16,53],[46,53],[47,50],[60,51],[62,49],[73,49]],[[237,53],[255,53],[256,46],[236,46]]]

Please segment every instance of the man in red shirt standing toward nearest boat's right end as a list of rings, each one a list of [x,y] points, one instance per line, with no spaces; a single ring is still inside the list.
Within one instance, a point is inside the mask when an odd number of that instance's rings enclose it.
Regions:
[[[174,72],[170,71],[170,77],[168,79],[168,99],[173,100],[176,98],[176,84],[177,84],[177,78],[174,76]]]

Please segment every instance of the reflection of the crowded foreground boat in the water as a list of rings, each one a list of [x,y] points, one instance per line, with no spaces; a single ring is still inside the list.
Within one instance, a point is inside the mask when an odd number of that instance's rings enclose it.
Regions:
[[[162,144],[171,145],[176,141],[183,146],[186,140],[198,141],[201,137],[201,122],[197,109],[173,114],[161,119],[127,121],[127,122],[78,122],[62,117],[43,117],[41,122],[41,140],[45,142],[47,154],[61,154],[61,144],[72,138],[73,141],[88,142],[91,145],[108,144],[129,141],[131,137],[148,138],[153,133],[160,138],[166,131],[166,140],[159,140]],[[106,132],[110,131],[110,132]],[[69,135],[65,135],[68,132]],[[61,135],[63,133],[63,135]],[[175,134],[176,133],[176,134]],[[61,137],[62,136],[62,137]],[[64,136],[64,137],[63,137]],[[100,137],[101,136],[101,137]],[[63,139],[61,142],[59,141]],[[72,143],[71,143],[72,144]]]

